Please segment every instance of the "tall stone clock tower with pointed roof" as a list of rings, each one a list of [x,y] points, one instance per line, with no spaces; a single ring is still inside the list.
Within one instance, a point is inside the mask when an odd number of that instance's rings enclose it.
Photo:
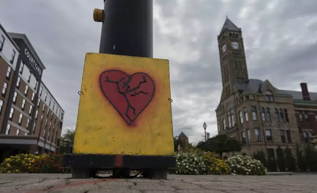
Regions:
[[[248,69],[242,31],[226,18],[218,35],[222,74],[222,99],[233,94],[235,82],[248,82]]]

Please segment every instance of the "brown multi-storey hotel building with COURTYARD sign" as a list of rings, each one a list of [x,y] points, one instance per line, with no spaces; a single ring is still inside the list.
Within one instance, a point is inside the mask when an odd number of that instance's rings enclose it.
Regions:
[[[25,34],[0,25],[0,159],[58,152],[64,111],[42,82],[45,69]]]

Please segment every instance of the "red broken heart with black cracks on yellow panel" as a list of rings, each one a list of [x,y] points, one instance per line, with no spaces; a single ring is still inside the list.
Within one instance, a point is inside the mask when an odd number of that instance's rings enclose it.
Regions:
[[[120,70],[100,74],[100,89],[130,126],[151,102],[155,93],[153,79],[144,72],[132,75]]]

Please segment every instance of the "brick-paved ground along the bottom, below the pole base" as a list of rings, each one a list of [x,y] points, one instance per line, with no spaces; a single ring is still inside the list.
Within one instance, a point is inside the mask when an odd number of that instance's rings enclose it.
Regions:
[[[0,174],[0,193],[317,193],[317,175],[186,176],[168,180],[70,179],[69,174]]]

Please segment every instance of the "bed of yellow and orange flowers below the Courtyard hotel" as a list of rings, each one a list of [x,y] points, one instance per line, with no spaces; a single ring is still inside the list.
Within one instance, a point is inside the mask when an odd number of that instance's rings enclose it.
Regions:
[[[0,173],[62,173],[61,157],[58,154],[11,156],[0,164]]]

